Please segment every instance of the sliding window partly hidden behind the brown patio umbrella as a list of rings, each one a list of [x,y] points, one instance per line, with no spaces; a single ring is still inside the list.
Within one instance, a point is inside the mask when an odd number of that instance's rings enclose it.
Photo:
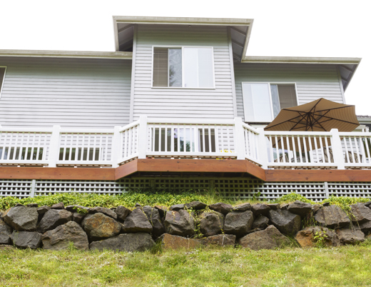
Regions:
[[[295,84],[242,83],[245,121],[270,122],[281,109],[298,106]]]

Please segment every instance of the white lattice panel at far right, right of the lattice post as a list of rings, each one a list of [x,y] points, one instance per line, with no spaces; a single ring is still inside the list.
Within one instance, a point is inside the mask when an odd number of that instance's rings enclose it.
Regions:
[[[328,183],[330,196],[371,197],[371,183]]]

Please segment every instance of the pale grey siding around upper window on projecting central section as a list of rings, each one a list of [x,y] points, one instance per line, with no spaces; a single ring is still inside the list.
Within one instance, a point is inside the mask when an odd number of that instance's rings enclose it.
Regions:
[[[133,120],[139,116],[233,119],[233,71],[226,27],[138,25]],[[152,84],[152,46],[213,46],[215,89],[159,89]]]

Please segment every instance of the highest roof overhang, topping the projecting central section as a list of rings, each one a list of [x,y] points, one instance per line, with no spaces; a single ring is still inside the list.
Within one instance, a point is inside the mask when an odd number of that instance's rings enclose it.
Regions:
[[[227,18],[181,18],[181,17],[144,17],[144,16],[113,16],[116,51],[130,49],[133,44],[134,25],[202,25],[229,26],[232,41],[233,56],[240,61],[248,49],[253,19]]]

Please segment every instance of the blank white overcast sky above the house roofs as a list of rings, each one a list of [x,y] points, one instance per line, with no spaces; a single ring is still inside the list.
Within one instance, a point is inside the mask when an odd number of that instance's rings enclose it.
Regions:
[[[370,10],[367,0],[0,0],[0,49],[114,51],[112,16],[254,19],[248,56],[362,58],[345,99],[371,116]]]

